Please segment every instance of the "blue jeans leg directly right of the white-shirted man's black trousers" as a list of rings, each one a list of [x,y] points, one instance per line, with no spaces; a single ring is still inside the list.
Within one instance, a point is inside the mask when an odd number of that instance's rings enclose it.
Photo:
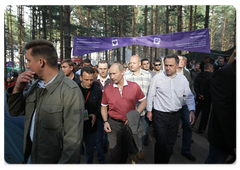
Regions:
[[[192,143],[192,125],[189,121],[189,110],[187,105],[184,105],[182,109],[180,109],[180,118],[182,120],[182,128],[183,128],[183,135],[182,135],[182,153],[183,154],[190,154],[190,148]]]

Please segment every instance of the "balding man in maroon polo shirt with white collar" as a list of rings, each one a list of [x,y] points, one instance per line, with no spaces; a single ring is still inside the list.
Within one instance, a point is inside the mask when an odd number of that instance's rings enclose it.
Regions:
[[[141,113],[146,107],[146,97],[140,86],[123,78],[124,68],[120,63],[114,63],[110,68],[113,83],[103,91],[101,114],[104,130],[109,136],[110,163],[126,164],[132,141],[126,114],[135,110],[137,101],[140,105],[137,111]],[[107,111],[107,106],[109,110]],[[109,115],[109,119],[108,119]]]

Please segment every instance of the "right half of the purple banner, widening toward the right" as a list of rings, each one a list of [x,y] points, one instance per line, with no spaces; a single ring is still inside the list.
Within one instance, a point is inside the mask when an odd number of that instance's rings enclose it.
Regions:
[[[136,45],[210,53],[209,29],[135,38]]]

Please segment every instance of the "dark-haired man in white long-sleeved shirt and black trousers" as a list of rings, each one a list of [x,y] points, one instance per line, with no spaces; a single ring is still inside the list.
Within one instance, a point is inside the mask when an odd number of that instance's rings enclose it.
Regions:
[[[177,72],[179,58],[169,54],[164,58],[165,71],[152,79],[147,97],[147,117],[155,129],[154,164],[168,164],[177,140],[182,101],[190,111],[191,124],[195,121],[195,101],[186,77]],[[154,110],[152,112],[152,103]]]

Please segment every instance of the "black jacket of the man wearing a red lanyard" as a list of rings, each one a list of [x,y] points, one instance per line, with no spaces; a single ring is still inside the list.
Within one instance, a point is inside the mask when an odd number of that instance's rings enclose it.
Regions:
[[[80,83],[81,84],[81,83]],[[85,109],[88,110],[88,115],[95,114],[98,117],[101,116],[101,101],[102,101],[102,90],[95,83],[92,84],[90,89],[84,89],[80,85],[80,89],[83,93],[84,99],[86,101],[88,92],[90,91],[89,97],[85,103]],[[84,121],[84,132],[95,132],[97,130],[97,119],[94,126],[92,127],[92,118]]]

